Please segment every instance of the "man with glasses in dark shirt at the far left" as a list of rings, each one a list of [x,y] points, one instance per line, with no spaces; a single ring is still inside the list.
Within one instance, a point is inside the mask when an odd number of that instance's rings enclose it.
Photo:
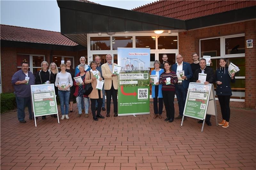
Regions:
[[[31,108],[31,89],[30,85],[35,84],[35,76],[28,71],[28,62],[21,63],[21,70],[17,71],[12,76],[12,85],[17,103],[17,116],[20,123],[26,123],[25,107],[28,106],[29,119],[33,119]],[[37,119],[37,117],[36,117]]]

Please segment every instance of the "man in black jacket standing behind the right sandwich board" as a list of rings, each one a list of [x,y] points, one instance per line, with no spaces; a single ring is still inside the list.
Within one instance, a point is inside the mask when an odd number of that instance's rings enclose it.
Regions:
[[[201,58],[199,60],[199,65],[200,68],[198,68],[193,76],[193,81],[196,83],[204,83],[204,84],[209,84],[209,83],[213,83],[214,82],[214,74],[213,74],[213,69],[210,67],[206,67],[206,60],[204,58]],[[203,73],[206,74],[206,81],[205,82],[201,82],[200,80],[198,80],[198,75],[199,73]],[[206,115],[206,124],[208,126],[212,126],[211,122],[211,115]],[[203,120],[199,120],[198,123],[203,123]]]

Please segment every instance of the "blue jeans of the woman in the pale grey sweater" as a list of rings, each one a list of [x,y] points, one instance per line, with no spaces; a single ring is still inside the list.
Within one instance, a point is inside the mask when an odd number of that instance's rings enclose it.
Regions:
[[[70,91],[68,90],[59,90],[58,95],[60,98],[60,110],[61,110],[61,115],[67,115],[69,112],[69,96],[70,96]],[[65,105],[65,108],[64,108]]]

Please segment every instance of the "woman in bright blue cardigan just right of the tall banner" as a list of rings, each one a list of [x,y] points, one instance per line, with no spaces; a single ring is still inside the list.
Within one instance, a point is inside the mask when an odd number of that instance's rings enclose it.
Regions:
[[[150,79],[150,83],[152,84],[152,97],[153,97],[153,106],[154,106],[154,117],[162,118],[162,111],[163,111],[163,95],[162,95],[162,84],[159,84],[159,77],[162,73],[164,73],[164,69],[160,67],[160,61],[156,60],[154,62],[155,70],[151,71],[151,75],[157,75],[157,83],[154,84],[154,81]],[[157,103],[158,107],[157,107]]]

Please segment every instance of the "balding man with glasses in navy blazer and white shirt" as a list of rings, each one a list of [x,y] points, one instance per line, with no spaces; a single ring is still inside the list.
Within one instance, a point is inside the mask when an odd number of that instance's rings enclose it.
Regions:
[[[189,63],[183,62],[182,55],[176,56],[177,63],[172,65],[172,70],[178,76],[178,83],[175,84],[175,94],[179,104],[179,116],[175,119],[181,119],[185,108],[186,97],[188,92],[189,79],[193,77],[192,69]],[[179,71],[184,71],[184,75],[180,76]],[[186,120],[186,117],[184,117]]]

